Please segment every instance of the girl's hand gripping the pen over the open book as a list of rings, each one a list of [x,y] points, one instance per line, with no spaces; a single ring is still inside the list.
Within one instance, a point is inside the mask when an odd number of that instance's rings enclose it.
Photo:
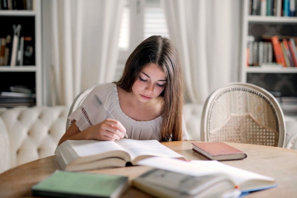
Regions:
[[[95,140],[114,141],[124,137],[125,127],[118,120],[105,119],[103,122],[89,127],[89,138]]]

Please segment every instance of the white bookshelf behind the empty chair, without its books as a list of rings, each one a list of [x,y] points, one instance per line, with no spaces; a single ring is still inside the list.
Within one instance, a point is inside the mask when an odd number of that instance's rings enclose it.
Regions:
[[[251,54],[248,52],[248,47],[251,48],[251,45],[248,43],[251,37],[254,42],[271,42],[265,40],[263,35],[297,37],[297,17],[266,16],[260,15],[259,12],[258,15],[251,15],[251,2],[259,2],[258,6],[261,6],[262,1],[243,0],[242,2],[240,80],[263,87],[273,95],[281,94],[276,98],[282,107],[286,107],[283,108],[284,113],[295,115],[297,114],[297,67],[251,66],[249,62]],[[280,2],[283,3],[283,1]],[[273,46],[272,55],[272,62],[276,62]],[[283,101],[287,98],[293,99],[290,102],[291,107],[287,108],[287,104],[282,103],[282,98]]]

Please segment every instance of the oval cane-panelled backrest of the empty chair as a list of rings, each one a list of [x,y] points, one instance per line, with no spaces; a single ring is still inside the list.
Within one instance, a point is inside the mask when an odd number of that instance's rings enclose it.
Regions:
[[[223,141],[283,147],[285,121],[278,101],[248,83],[217,88],[204,103],[201,141]]]

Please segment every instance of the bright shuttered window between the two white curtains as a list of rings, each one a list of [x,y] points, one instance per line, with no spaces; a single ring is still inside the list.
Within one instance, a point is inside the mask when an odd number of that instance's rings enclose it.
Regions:
[[[118,41],[120,62],[125,62],[132,50],[152,35],[169,37],[160,0],[126,0]]]

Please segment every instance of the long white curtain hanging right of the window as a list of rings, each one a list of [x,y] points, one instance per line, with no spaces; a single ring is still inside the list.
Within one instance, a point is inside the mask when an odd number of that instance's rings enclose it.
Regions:
[[[240,1],[163,0],[163,7],[187,102],[203,104],[214,88],[238,81]]]

